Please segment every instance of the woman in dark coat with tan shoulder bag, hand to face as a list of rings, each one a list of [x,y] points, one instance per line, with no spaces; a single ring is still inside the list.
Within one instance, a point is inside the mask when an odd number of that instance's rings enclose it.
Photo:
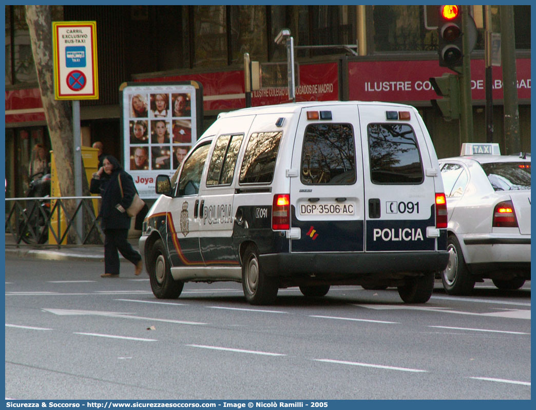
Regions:
[[[134,274],[139,275],[143,268],[142,256],[126,240],[130,228],[130,216],[126,214],[126,208],[130,206],[136,194],[132,177],[123,171],[115,157],[108,155],[103,159],[99,171],[93,174],[90,192],[102,196],[99,216],[105,233],[105,273],[101,277],[119,276],[120,262],[117,251],[136,266]]]

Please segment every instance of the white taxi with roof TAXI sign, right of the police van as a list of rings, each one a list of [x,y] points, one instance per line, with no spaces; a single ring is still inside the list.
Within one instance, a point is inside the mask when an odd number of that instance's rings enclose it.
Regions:
[[[439,163],[448,211],[445,291],[470,294],[485,278],[499,289],[522,287],[531,277],[530,154],[471,143]]]

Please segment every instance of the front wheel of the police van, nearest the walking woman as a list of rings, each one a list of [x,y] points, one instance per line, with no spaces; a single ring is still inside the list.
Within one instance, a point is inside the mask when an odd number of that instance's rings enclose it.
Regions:
[[[173,279],[162,239],[155,241],[151,247],[148,268],[154,296],[159,299],[176,299],[181,294],[184,283]]]

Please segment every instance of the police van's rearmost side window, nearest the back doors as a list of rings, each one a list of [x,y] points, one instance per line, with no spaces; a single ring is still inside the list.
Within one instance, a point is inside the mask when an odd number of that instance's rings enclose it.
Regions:
[[[252,133],[240,168],[240,184],[271,182],[282,131]]]

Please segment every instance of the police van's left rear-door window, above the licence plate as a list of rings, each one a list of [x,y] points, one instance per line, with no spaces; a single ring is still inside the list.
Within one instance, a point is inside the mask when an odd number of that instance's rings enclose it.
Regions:
[[[305,185],[354,184],[355,143],[350,124],[307,126],[300,178]]]

